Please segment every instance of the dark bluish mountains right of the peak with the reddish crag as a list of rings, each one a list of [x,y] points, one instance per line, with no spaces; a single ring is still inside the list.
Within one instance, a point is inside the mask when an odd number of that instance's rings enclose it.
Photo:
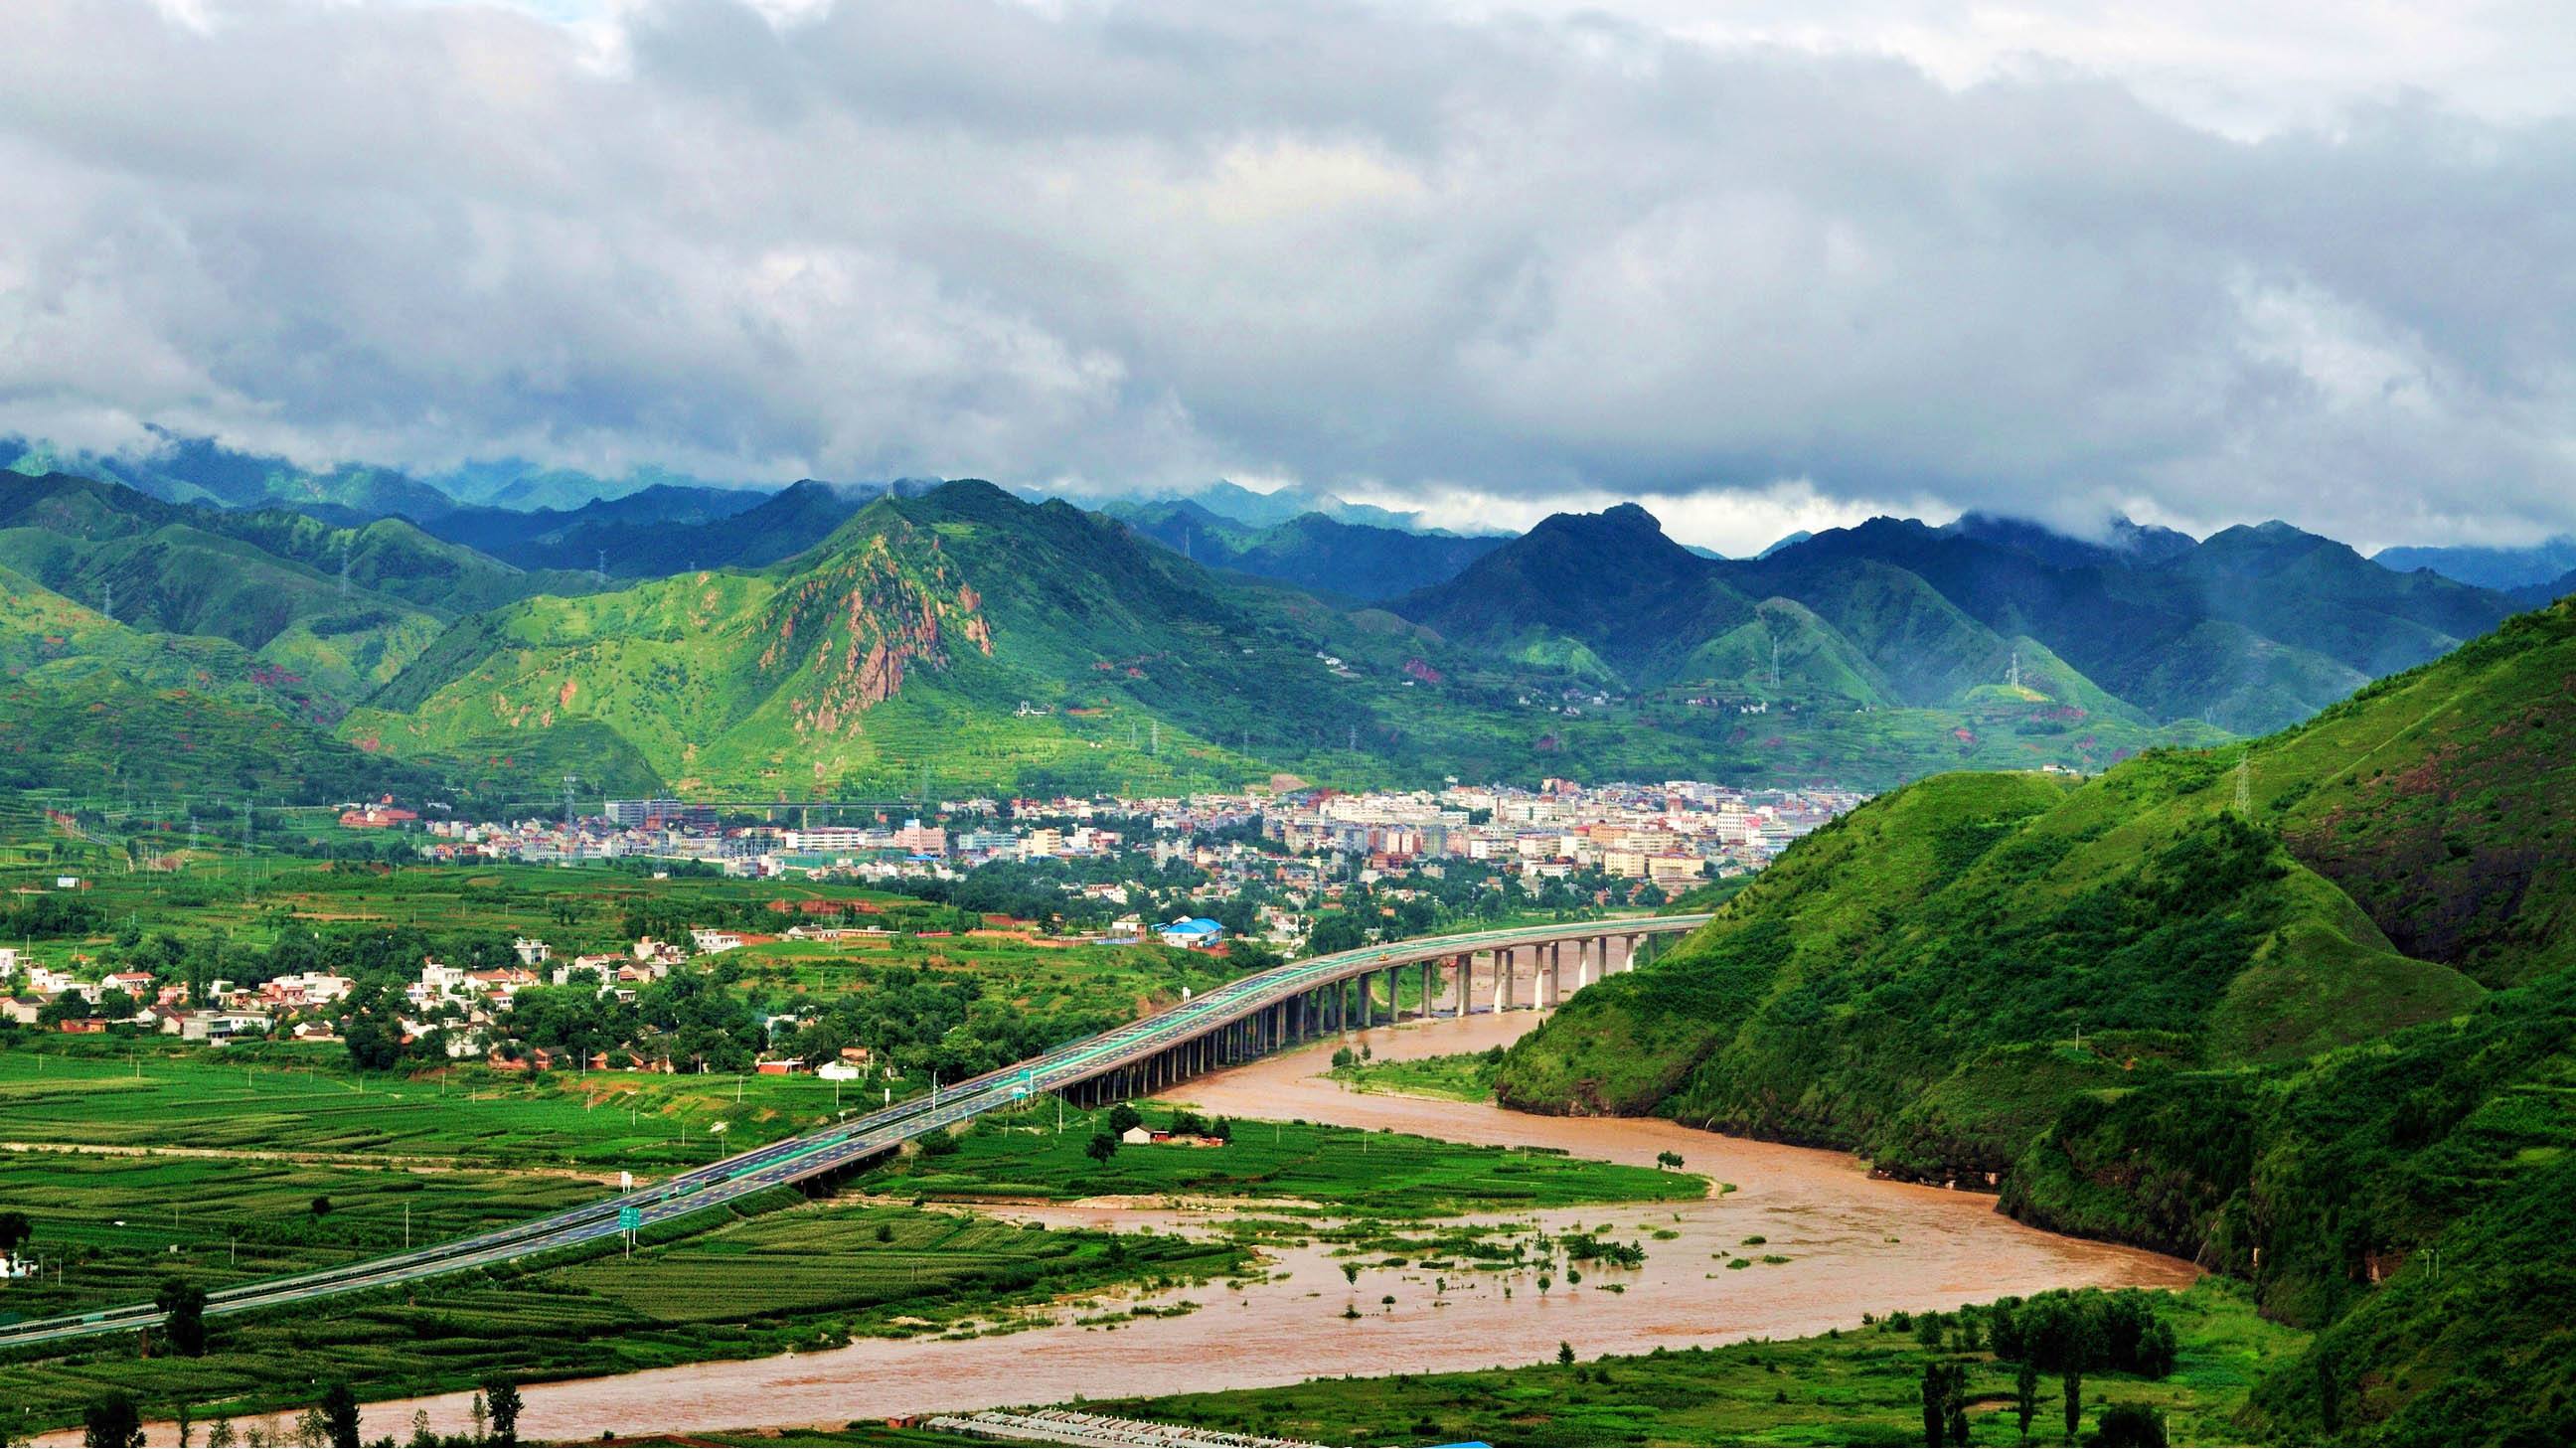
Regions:
[[[1968,516],[1873,518],[1710,559],[1638,505],[1558,513],[1388,601],[1443,637],[1638,691],[2275,730],[2491,629],[2517,601],[2398,575],[2287,523],[2110,544]]]

